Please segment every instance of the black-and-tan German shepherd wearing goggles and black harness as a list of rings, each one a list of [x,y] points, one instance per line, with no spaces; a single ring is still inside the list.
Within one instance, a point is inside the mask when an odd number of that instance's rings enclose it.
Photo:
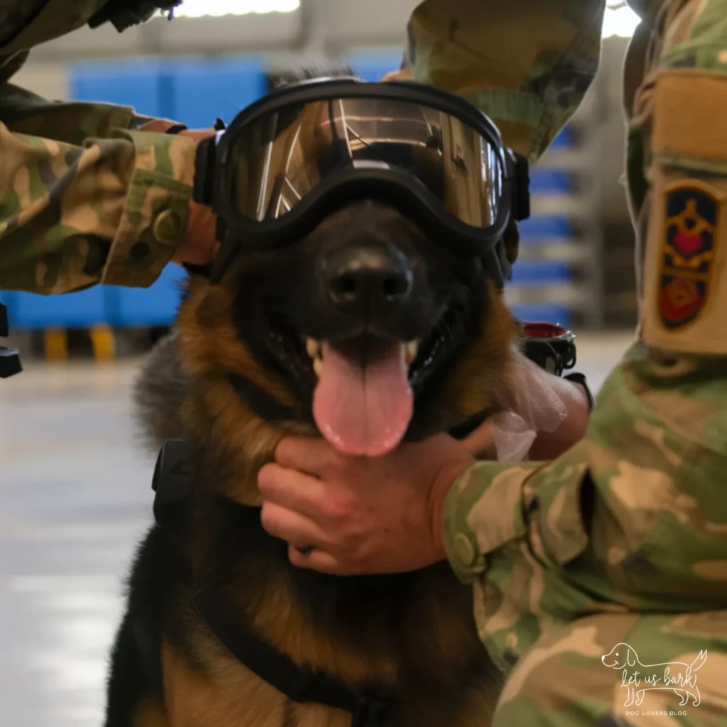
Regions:
[[[515,262],[514,223],[505,245]],[[285,249],[239,254],[220,284],[191,276],[135,398],[154,447],[188,442],[193,494],[174,527],[153,526],[136,555],[106,727],[352,724],[350,712],[293,701],[244,666],[194,607],[200,588],[216,590],[239,624],[295,664],[385,689],[382,727],[489,724],[502,678],[478,638],[472,590],[447,563],[376,578],[297,569],[254,505],[257,472],[282,436],[319,436],[326,417],[377,409],[369,397],[395,408],[406,377],[408,440],[502,409],[517,345],[484,265],[371,200],[329,214]],[[314,413],[316,386],[329,387],[333,403]],[[371,422],[385,418],[374,411]],[[374,443],[383,436],[369,432]]]

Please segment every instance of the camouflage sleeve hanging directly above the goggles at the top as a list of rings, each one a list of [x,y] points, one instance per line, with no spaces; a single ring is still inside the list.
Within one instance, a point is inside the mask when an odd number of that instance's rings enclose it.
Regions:
[[[601,53],[606,0],[425,0],[408,28],[415,81],[457,93],[505,144],[539,158],[579,107]]]

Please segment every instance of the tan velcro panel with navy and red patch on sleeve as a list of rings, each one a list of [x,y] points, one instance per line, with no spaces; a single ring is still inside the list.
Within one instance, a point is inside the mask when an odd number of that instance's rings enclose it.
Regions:
[[[643,340],[727,355],[727,74],[659,73]]]

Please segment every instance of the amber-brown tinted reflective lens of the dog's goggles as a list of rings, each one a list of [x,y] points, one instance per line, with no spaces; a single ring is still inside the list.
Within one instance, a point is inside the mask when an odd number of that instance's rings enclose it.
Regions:
[[[502,156],[456,116],[419,103],[336,98],[279,108],[243,126],[230,146],[238,214],[276,220],[321,182],[351,169],[387,169],[423,185],[473,228],[499,219]]]

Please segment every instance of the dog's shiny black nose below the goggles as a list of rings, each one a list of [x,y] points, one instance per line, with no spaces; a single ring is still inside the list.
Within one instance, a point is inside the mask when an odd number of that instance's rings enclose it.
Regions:
[[[393,246],[356,245],[329,255],[324,278],[340,308],[382,308],[409,299],[414,271]]]

